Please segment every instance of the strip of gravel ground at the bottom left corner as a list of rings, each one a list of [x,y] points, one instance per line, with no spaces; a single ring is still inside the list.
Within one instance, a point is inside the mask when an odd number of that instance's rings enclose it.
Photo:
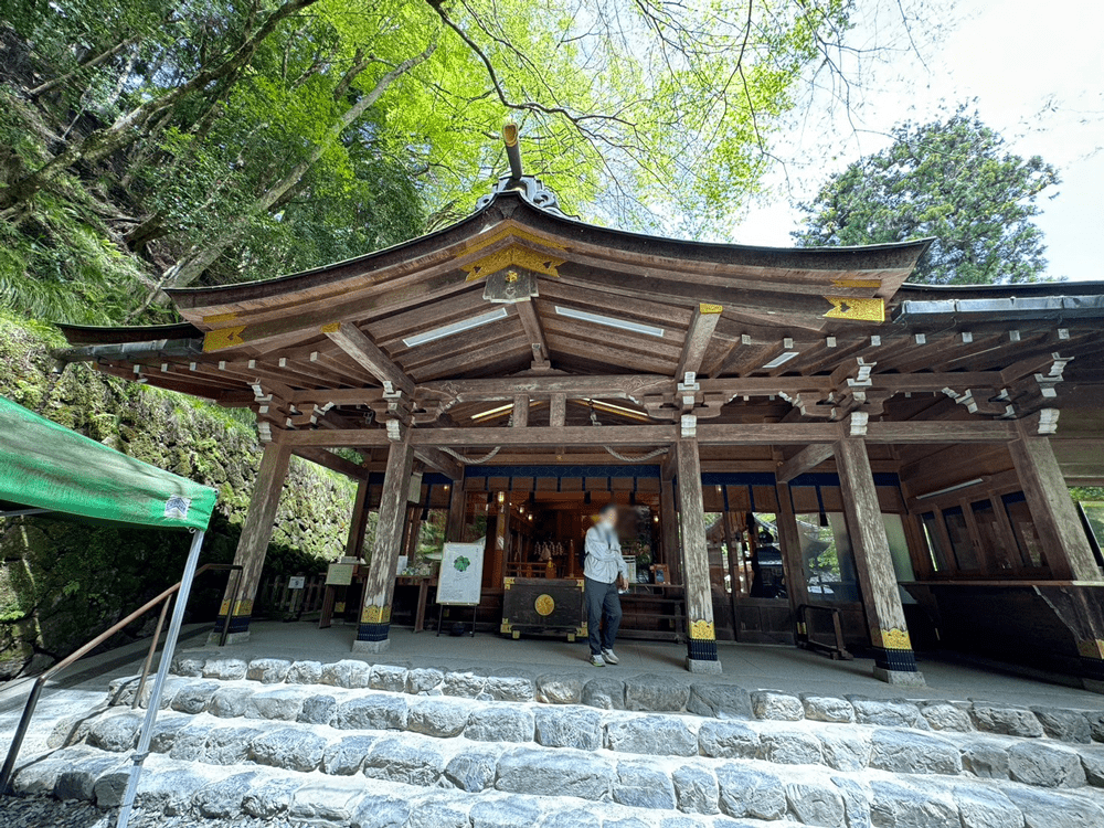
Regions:
[[[115,828],[118,811],[100,810],[81,802],[59,802],[51,797],[0,797],[0,828]],[[147,814],[140,808],[130,813],[132,828],[291,828],[285,819],[203,819],[192,816],[167,817],[160,811]]]

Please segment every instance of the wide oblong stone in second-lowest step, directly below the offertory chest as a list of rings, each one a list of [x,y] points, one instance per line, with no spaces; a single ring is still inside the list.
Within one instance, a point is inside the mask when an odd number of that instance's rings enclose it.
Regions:
[[[498,761],[495,787],[511,794],[607,799],[616,776],[613,765],[582,751],[517,747]]]

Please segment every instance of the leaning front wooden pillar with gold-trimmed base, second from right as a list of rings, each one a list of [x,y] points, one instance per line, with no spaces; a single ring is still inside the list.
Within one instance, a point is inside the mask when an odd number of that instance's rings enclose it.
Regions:
[[[874,676],[891,684],[921,687],[924,677],[916,670],[870,457],[861,437],[846,437],[836,444],[836,467],[874,647]]]

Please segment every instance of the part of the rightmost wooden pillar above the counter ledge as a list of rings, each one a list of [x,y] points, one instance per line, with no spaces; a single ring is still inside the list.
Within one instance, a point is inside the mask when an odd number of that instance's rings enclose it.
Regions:
[[[1008,450],[1053,577],[1060,581],[1101,581],[1100,567],[1070,498],[1050,438],[1030,435],[1020,424],[1020,438],[1009,443]]]

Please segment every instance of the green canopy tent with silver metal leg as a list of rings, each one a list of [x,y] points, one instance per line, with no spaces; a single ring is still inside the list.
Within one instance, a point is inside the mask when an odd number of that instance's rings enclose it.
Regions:
[[[52,423],[0,396],[0,518],[20,514],[73,516],[78,519],[132,523],[194,533],[181,577],[161,662],[150,691],[130,781],[119,810],[126,826],[141,764],[160,707],[161,690],[180,635],[192,578],[217,492]],[[34,710],[36,682],[0,772],[0,789],[14,771],[15,756]]]

